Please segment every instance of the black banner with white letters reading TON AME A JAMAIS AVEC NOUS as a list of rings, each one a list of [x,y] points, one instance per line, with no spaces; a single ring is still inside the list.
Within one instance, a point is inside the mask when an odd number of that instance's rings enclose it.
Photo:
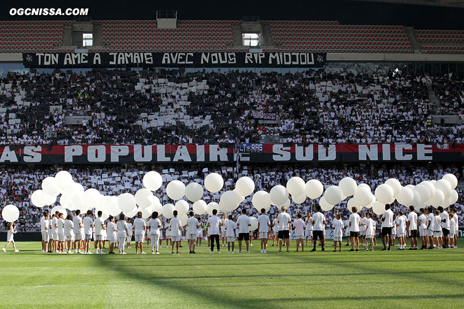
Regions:
[[[260,67],[322,68],[326,53],[304,52],[103,52],[23,53],[22,63],[34,68],[94,67]]]

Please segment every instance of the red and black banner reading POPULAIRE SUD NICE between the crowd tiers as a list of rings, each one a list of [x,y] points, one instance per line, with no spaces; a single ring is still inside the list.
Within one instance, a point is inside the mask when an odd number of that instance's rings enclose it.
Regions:
[[[464,144],[240,144],[241,163],[464,162]],[[235,147],[220,145],[69,145],[0,147],[0,164],[236,162]]]

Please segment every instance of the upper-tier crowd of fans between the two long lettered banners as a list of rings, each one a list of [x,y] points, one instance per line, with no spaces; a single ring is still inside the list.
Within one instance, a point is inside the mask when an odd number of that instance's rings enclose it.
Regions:
[[[295,74],[165,70],[10,74],[0,83],[0,145],[463,143],[461,73]],[[435,91],[440,102],[429,101]],[[259,124],[253,112],[275,112]],[[65,124],[65,116],[92,120]]]

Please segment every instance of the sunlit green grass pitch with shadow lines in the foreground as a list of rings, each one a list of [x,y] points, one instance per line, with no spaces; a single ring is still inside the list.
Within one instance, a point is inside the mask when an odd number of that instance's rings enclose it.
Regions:
[[[218,255],[204,242],[190,255],[183,242],[181,255],[163,246],[161,255],[90,256],[18,242],[19,253],[0,251],[0,308],[463,308],[464,240],[389,252],[380,240],[375,252],[334,253],[331,244],[259,254],[255,241],[250,254]]]

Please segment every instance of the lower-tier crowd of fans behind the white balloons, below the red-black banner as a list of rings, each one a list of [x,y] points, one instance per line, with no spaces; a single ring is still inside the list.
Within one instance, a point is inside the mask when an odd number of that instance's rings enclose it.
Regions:
[[[453,173],[458,178],[461,178],[464,170],[455,165],[439,165],[439,164],[411,164],[411,165],[379,165],[360,163],[353,166],[351,164],[340,163],[338,165],[319,165],[315,167],[310,164],[274,164],[271,166],[263,164],[249,164],[241,166],[240,172],[237,174],[232,166],[210,166],[205,168],[199,165],[145,165],[145,166],[47,166],[35,167],[29,169],[25,166],[7,166],[0,167],[0,198],[4,205],[13,204],[19,208],[19,219],[17,220],[16,229],[18,231],[37,231],[40,229],[41,212],[44,209],[51,209],[54,205],[44,208],[37,208],[30,202],[31,193],[40,187],[41,181],[49,176],[54,175],[60,167],[68,170],[73,175],[76,182],[81,183],[84,188],[95,188],[102,194],[118,196],[121,193],[135,192],[142,188],[142,178],[144,174],[150,170],[156,170],[163,175],[164,183],[162,187],[156,191],[156,196],[159,197],[162,204],[173,203],[166,194],[166,185],[171,180],[181,180],[185,184],[198,182],[203,185],[203,179],[209,172],[216,171],[223,175],[225,180],[224,188],[218,193],[208,193],[205,190],[204,200],[209,203],[211,201],[219,202],[220,194],[226,190],[232,190],[234,183],[238,177],[247,175],[255,182],[255,192],[258,190],[269,191],[274,185],[284,184],[292,176],[300,176],[305,180],[319,179],[327,188],[329,185],[337,184],[338,181],[349,176],[354,178],[358,183],[367,183],[374,190],[379,184],[386,179],[394,177],[400,180],[402,185],[418,184],[423,180],[440,179],[446,173]],[[457,213],[460,223],[464,219],[464,200],[463,192],[458,187],[459,193],[458,202],[452,206],[457,208]],[[235,210],[239,213],[244,207],[248,213],[253,216],[259,215],[258,211],[251,204],[251,197],[248,196]],[[349,216],[346,207],[347,200],[336,205],[331,211],[326,212],[327,227],[331,226],[335,212],[340,212],[343,219]],[[192,203],[190,203],[192,207]],[[314,211],[314,206],[318,204],[318,199],[306,199],[301,205],[291,201],[291,205],[287,212],[292,217],[295,217],[298,212],[303,215]],[[58,201],[55,203],[58,205]],[[395,201],[393,210],[406,210],[407,207],[398,205]],[[367,209],[364,208],[364,211]],[[372,209],[371,209],[372,211]],[[275,207],[271,207],[269,215],[273,218],[278,214]],[[206,215],[205,215],[206,216]],[[375,215],[374,215],[375,216]],[[206,217],[205,217],[206,218]],[[206,222],[206,220],[204,220]],[[1,221],[1,229],[4,229],[4,222]]]

